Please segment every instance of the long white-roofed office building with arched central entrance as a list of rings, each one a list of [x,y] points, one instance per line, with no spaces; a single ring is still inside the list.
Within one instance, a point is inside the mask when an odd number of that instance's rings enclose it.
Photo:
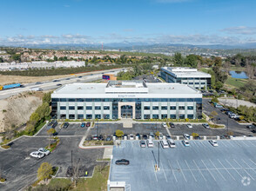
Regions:
[[[73,83],[52,93],[51,108],[57,119],[200,119],[202,95],[179,83]]]

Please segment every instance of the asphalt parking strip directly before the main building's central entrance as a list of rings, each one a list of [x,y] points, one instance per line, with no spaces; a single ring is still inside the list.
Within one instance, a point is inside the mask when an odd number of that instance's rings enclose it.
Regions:
[[[113,135],[117,129],[122,130],[126,135],[149,135],[151,132],[155,134],[157,131],[168,135],[161,123],[136,123],[132,128],[123,128],[122,123],[96,123],[95,127],[91,128],[89,135]]]

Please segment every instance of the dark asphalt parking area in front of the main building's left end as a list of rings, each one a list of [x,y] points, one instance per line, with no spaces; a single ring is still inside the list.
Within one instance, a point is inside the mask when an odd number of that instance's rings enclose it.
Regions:
[[[61,125],[62,123],[58,123],[58,125],[55,127],[57,136],[62,136],[62,135],[84,136],[86,130],[88,129],[86,127],[81,128],[80,127],[81,123],[69,123],[68,128],[61,128]],[[37,136],[42,136],[42,135],[48,135],[46,126],[37,134]]]

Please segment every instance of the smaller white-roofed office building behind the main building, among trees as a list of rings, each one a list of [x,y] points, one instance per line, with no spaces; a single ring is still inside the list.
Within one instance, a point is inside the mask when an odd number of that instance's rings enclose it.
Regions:
[[[195,89],[211,89],[211,75],[198,69],[180,67],[162,67],[160,76],[165,82],[187,84]]]

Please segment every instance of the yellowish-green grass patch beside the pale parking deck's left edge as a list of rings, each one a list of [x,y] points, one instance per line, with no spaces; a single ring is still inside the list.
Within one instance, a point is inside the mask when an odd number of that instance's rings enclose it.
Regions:
[[[93,177],[85,180],[81,179],[77,184],[77,188],[74,188],[74,190],[106,191],[109,170],[110,166],[104,167],[101,172],[99,171],[98,167],[95,167]]]

